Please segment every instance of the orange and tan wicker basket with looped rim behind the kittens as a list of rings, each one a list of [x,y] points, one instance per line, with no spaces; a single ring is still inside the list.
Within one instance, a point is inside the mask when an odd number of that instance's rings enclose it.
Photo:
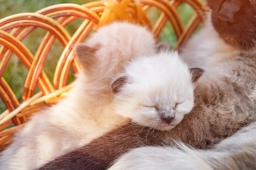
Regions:
[[[182,3],[189,4],[196,12],[189,23],[184,26],[177,12]],[[147,11],[152,7],[160,15],[153,24]],[[79,72],[79,64],[74,60],[74,46],[83,42],[90,31],[113,20],[129,20],[148,26],[157,38],[166,23],[171,23],[177,37],[175,48],[181,46],[191,36],[204,20],[207,11],[205,4],[199,0],[107,0],[90,2],[83,5],[57,4],[46,7],[35,13],[19,13],[0,20],[0,97],[7,110],[0,114],[0,150],[11,142],[11,136],[20,129],[29,117],[44,106],[56,103],[71,85],[67,85],[70,69]],[[67,26],[76,20],[82,20],[73,35],[67,31]],[[25,38],[40,27],[46,30],[40,45],[29,50],[24,45]],[[54,41],[63,46],[52,80],[43,70],[49,51]],[[34,51],[34,54],[33,52]],[[10,57],[18,57],[27,68],[24,77],[22,102],[19,102],[13,89],[4,79],[4,70]],[[53,83],[51,83],[51,81]],[[40,89],[35,93],[35,88]]]

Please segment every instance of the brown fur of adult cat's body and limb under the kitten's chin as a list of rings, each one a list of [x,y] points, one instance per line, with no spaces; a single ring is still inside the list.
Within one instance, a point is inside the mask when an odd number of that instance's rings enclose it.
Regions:
[[[144,145],[166,145],[183,141],[195,148],[206,148],[227,138],[255,119],[255,54],[241,54],[228,62],[226,74],[211,80],[199,79],[195,107],[170,132],[128,123],[95,139],[87,146],[59,157],[39,170],[104,170],[128,151]],[[204,81],[202,81],[204,80]]]

